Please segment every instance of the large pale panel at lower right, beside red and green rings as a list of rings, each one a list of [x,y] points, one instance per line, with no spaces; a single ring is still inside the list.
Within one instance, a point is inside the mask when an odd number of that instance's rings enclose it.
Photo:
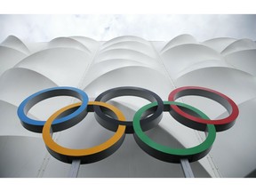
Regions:
[[[255,108],[255,98],[239,105],[236,124],[216,138],[212,156],[223,177],[245,177],[256,168]]]

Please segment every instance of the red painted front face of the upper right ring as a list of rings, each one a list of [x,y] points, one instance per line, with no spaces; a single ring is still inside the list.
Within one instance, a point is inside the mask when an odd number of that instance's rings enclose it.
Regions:
[[[168,100],[169,101],[174,101],[182,96],[185,96],[185,95],[188,95],[188,94],[184,94],[184,95],[177,95],[178,93],[180,92],[184,92],[184,91],[188,91],[188,90],[191,90],[192,91],[192,94],[190,95],[194,95],[193,94],[193,90],[201,90],[201,91],[204,91],[204,92],[208,92],[208,95],[204,95],[204,94],[201,94],[201,93],[198,93],[196,92],[195,95],[200,95],[200,96],[203,96],[203,97],[206,97],[206,98],[209,98],[209,93],[211,94],[212,97],[221,97],[223,100],[227,100],[228,101],[228,104],[229,104],[229,107],[231,107],[231,112],[230,110],[228,110],[228,113],[229,113],[229,116],[226,117],[226,118],[223,118],[223,119],[217,119],[217,120],[208,120],[208,119],[203,119],[203,118],[200,118],[200,117],[196,117],[196,116],[191,116],[189,115],[188,113],[182,111],[180,108],[178,108],[177,106],[172,106],[172,109],[178,113],[180,116],[184,116],[186,118],[188,118],[189,120],[191,121],[194,121],[196,123],[201,123],[201,124],[219,124],[219,125],[222,125],[222,124],[230,124],[232,122],[235,122],[236,120],[236,117],[238,116],[239,114],[239,109],[236,105],[236,103],[231,100],[230,98],[228,98],[228,96],[222,94],[221,92],[216,92],[214,90],[211,90],[211,89],[207,89],[207,88],[204,88],[204,87],[198,87],[198,86],[184,86],[184,87],[180,87],[180,88],[177,88],[175,90],[173,90],[170,94],[169,94],[169,97],[168,97]],[[213,98],[209,98],[209,99],[212,99],[214,100]],[[218,100],[215,100],[218,102]],[[221,103],[220,103],[221,104]],[[222,104],[221,104],[222,105]],[[228,109],[227,106],[224,106],[222,105],[224,108]]]

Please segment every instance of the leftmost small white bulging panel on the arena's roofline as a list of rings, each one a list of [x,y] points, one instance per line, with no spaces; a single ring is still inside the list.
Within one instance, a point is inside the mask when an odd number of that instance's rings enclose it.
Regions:
[[[17,36],[8,36],[1,45],[29,54],[28,47]]]

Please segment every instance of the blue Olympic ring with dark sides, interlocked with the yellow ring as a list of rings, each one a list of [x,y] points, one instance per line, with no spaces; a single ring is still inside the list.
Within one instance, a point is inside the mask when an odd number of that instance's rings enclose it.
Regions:
[[[68,122],[68,126],[72,124],[77,124],[77,119],[82,120],[81,119],[82,116],[84,117],[86,115],[87,113],[86,108],[87,108],[89,99],[85,92],[74,87],[67,87],[67,86],[53,87],[53,88],[45,89],[40,92],[36,92],[20,103],[17,113],[20,118],[21,124],[29,131],[42,132],[45,121],[38,121],[38,120],[29,118],[27,116],[28,110],[32,108],[34,105],[36,105],[36,103],[40,102],[41,100],[45,100],[55,96],[73,96],[79,100],[82,100],[82,105],[79,108],[77,108],[76,111],[68,114],[68,116],[61,116],[60,118],[55,119],[52,122],[52,126],[53,127],[54,125],[56,126],[56,129],[52,129],[53,132],[59,132],[63,130],[64,127],[61,128],[61,126],[63,126],[64,124],[62,123]],[[58,128],[58,125],[59,125],[59,128]],[[65,127],[67,127],[67,125]]]

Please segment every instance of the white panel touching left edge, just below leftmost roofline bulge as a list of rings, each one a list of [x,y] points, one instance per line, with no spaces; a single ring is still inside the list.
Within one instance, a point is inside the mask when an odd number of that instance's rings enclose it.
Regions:
[[[15,66],[20,60],[27,55],[15,49],[0,46],[0,76],[9,68]]]

